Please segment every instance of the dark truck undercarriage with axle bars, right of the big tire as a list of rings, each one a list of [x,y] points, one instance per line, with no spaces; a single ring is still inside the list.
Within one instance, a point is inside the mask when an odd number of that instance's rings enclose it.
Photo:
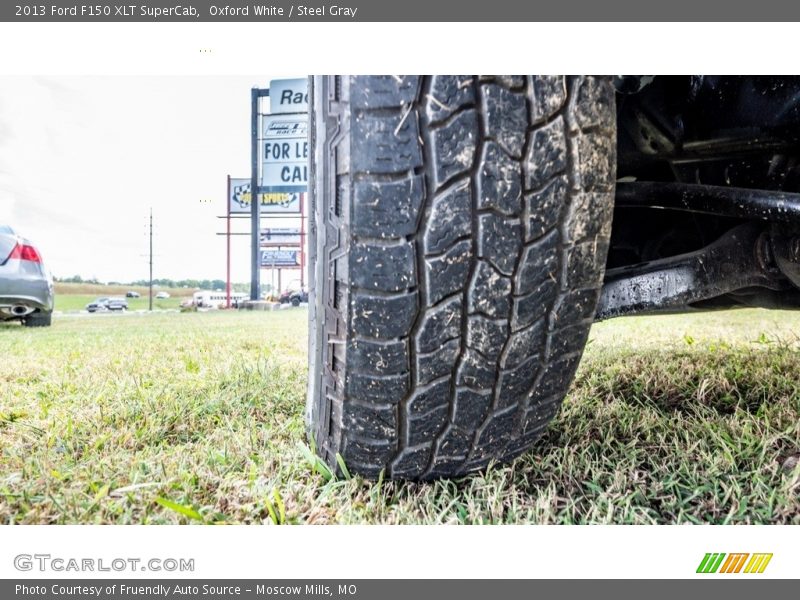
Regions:
[[[619,77],[597,319],[800,307],[800,78]]]

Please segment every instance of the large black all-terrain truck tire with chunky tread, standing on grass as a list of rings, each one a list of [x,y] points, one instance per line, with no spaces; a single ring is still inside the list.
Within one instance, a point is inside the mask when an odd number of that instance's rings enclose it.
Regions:
[[[557,412],[602,282],[604,77],[315,77],[307,420],[337,468],[507,461]]]

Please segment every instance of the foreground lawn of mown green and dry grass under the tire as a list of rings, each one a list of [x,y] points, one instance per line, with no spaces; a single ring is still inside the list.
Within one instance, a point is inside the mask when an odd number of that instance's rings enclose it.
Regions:
[[[601,323],[531,452],[427,484],[313,460],[306,316],[0,325],[0,522],[800,524],[800,314]]]

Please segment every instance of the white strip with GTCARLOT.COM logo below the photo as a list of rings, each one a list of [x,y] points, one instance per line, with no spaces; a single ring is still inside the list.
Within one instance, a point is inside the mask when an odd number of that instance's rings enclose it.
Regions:
[[[10,526],[0,578],[797,578],[779,526]],[[320,553],[325,549],[324,557]],[[709,552],[772,553],[762,574],[697,574]],[[15,557],[194,559],[192,572],[23,572]],[[63,563],[66,564],[66,563]],[[95,562],[95,565],[99,564]],[[121,563],[120,563],[121,564]]]

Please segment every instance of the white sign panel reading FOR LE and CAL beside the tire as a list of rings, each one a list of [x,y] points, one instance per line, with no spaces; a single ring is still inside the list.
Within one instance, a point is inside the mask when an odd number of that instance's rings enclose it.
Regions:
[[[308,189],[308,115],[264,115],[261,188],[265,192]]]

